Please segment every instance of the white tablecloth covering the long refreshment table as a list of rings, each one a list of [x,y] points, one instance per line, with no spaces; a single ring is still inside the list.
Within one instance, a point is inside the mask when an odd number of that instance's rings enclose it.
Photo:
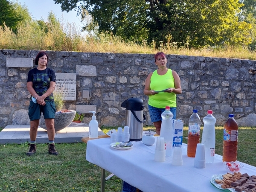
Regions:
[[[212,175],[227,173],[222,156],[215,154],[214,163],[204,169],[194,167],[194,158],[187,157],[187,145],[182,146],[183,166],[173,166],[171,159],[154,161],[155,144],[132,142],[128,150],[116,150],[110,146],[110,138],[90,140],[87,143],[86,160],[116,175],[143,192],[218,192],[210,183]],[[241,173],[256,175],[256,167],[244,164]]]

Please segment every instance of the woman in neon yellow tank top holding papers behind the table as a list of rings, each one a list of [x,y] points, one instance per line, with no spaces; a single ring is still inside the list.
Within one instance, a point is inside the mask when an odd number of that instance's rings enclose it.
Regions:
[[[182,91],[180,77],[176,71],[166,67],[166,55],[163,52],[157,52],[154,58],[158,69],[148,75],[144,94],[149,97],[148,110],[151,122],[154,123],[157,134],[160,135],[161,114],[165,111],[165,107],[169,106],[174,115],[173,119],[176,119],[176,94]]]

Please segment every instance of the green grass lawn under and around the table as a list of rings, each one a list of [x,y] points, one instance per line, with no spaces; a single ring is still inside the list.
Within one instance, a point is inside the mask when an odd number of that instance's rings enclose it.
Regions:
[[[154,131],[153,127],[144,129]],[[222,155],[223,127],[215,130],[215,152]],[[188,127],[184,127],[183,143],[187,142],[187,133]],[[256,127],[239,127],[238,160],[252,166],[256,166],[255,135]],[[0,191],[99,192],[100,168],[85,160],[86,144],[56,144],[56,148],[60,155],[52,156],[47,153],[47,144],[38,144],[37,153],[27,157],[27,143],[0,145]],[[107,181],[106,192],[120,192],[121,185],[120,179]]]

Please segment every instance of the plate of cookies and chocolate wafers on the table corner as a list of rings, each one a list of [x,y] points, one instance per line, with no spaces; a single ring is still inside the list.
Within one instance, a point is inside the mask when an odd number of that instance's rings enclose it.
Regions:
[[[249,176],[240,172],[212,175],[213,186],[231,192],[256,192],[256,175]]]

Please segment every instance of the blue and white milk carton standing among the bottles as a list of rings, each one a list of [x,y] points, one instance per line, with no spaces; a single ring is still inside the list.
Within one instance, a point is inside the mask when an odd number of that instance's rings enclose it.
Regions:
[[[172,119],[173,144],[172,147],[181,147],[183,140],[183,122],[180,119]]]

